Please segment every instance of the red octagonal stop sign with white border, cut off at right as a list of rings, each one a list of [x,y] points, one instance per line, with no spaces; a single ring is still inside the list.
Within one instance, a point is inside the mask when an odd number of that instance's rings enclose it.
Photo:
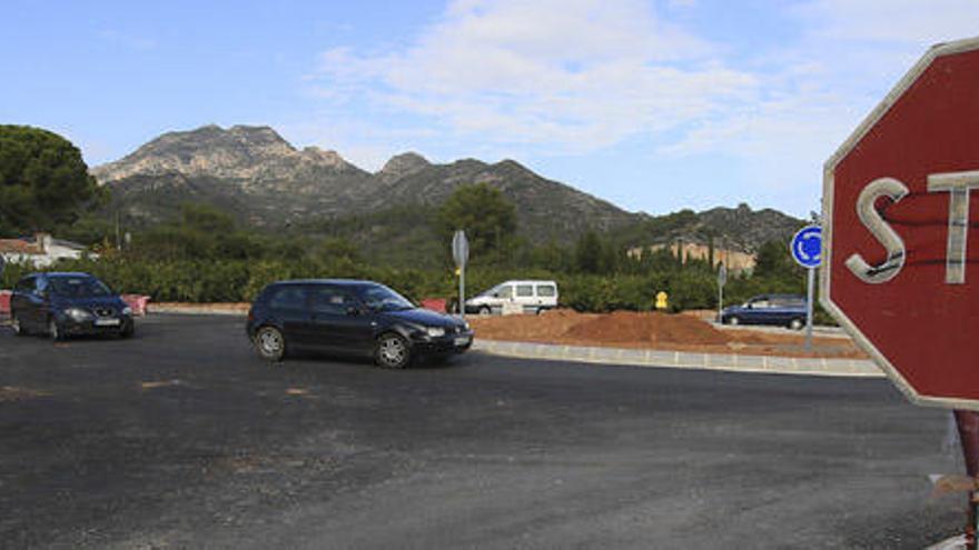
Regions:
[[[979,409],[973,189],[979,39],[929,50],[825,163],[822,303],[921,404]]]

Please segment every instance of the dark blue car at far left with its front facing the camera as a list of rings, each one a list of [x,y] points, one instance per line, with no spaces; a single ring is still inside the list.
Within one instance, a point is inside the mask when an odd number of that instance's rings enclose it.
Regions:
[[[53,340],[81,334],[132,336],[132,310],[88,273],[33,273],[13,287],[10,322],[17,334]]]

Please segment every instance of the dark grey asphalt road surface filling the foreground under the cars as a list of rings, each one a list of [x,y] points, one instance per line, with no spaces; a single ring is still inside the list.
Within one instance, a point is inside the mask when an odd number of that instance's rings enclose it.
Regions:
[[[883,380],[0,329],[0,547],[922,548],[963,523],[947,429]]]

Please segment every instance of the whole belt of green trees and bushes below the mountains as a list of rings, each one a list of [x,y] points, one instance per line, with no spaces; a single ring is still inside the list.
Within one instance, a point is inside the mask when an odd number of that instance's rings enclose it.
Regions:
[[[66,140],[22,127],[0,127],[0,140],[21,143],[0,156],[0,198],[8,201],[0,206],[0,237],[43,230],[87,244],[98,259],[62,261],[51,269],[87,271],[120,292],[155,301],[249,301],[275,280],[327,277],[373,279],[415,300],[452,298],[457,279],[448,241],[456,228],[465,228],[472,248],[469,294],[507,279],[553,279],[562,303],[578,311],[645,311],[660,291],[669,294],[672,311],[718,307],[718,273],[710,259],[682,262],[666,249],[639,258],[626,253],[629,244],[643,242],[632,239],[665,233],[691,212],[614,233],[586,231],[571,244],[534,243],[518,232],[515,206],[498,189],[473,184],[459,187],[438,207],[400,206],[277,231],[245,226],[230,212],[199,203],[140,226],[111,214],[107,191],[79,171],[83,162]],[[11,197],[22,207],[11,207]],[[378,230],[375,217],[395,223]],[[31,269],[9,266],[0,287],[10,288]],[[788,243],[772,241],[758,251],[753,272],[729,277],[725,302],[767,292],[803,293],[804,284]]]

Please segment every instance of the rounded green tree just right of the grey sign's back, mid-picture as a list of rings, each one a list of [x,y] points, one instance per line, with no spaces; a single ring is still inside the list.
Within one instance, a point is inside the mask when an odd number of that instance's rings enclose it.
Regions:
[[[446,243],[456,230],[464,229],[474,262],[500,262],[507,257],[516,233],[516,208],[502,191],[486,183],[463,186],[438,209],[436,227]]]

